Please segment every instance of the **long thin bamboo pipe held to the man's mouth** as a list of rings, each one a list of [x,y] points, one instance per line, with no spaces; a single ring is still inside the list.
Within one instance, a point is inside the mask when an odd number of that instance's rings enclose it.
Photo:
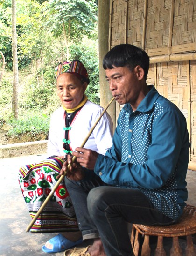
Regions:
[[[98,124],[99,120],[102,118],[102,116],[104,115],[105,111],[108,109],[108,107],[110,106],[110,104],[112,103],[112,101],[114,100],[114,98],[111,99],[111,101],[108,103],[108,105],[105,107],[104,111],[101,113],[101,115],[99,116],[99,118],[96,120],[95,124],[93,125],[93,127],[91,128],[91,130],[89,131],[88,135],[85,137],[83,143],[81,144],[80,148],[83,148],[85,143],[87,142],[87,140],[89,139],[89,137],[91,136],[91,133],[93,132],[94,128],[96,127],[96,125]],[[74,163],[76,161],[76,157],[74,156],[72,158],[72,163]],[[69,164],[67,166],[68,170],[70,168],[71,164]],[[66,172],[63,173],[63,175],[61,175],[61,177],[59,178],[59,180],[56,182],[56,185],[54,186],[54,188],[50,191],[49,195],[47,196],[46,200],[42,203],[42,206],[40,207],[40,209],[37,211],[35,217],[31,220],[30,224],[28,225],[26,232],[28,232],[31,227],[33,226],[33,224],[35,223],[35,220],[39,217],[39,215],[42,213],[44,207],[46,206],[46,204],[49,202],[50,198],[53,196],[53,194],[56,191],[56,188],[60,185],[61,181],[63,181],[64,177],[66,175]]]

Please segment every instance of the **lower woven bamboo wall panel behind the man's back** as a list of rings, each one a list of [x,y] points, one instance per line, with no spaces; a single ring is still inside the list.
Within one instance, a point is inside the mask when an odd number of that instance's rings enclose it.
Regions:
[[[157,77],[154,76],[156,69]],[[147,84],[155,84],[161,95],[172,101],[187,120],[191,141],[191,168],[196,164],[196,61],[153,63],[150,65]]]

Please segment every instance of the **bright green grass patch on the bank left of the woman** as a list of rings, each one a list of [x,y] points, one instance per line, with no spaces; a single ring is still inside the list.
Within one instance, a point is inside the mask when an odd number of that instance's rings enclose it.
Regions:
[[[27,114],[19,120],[10,119],[8,124],[11,126],[7,134],[9,137],[17,137],[27,133],[31,135],[45,133],[47,135],[49,132],[49,117],[45,114]]]

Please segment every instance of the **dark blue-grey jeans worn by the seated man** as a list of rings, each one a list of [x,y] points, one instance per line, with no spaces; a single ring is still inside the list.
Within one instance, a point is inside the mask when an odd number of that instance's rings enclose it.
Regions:
[[[65,178],[65,184],[83,239],[100,237],[107,256],[133,255],[127,222],[144,225],[174,222],[154,209],[140,190],[111,187],[97,175],[90,176],[89,181]]]

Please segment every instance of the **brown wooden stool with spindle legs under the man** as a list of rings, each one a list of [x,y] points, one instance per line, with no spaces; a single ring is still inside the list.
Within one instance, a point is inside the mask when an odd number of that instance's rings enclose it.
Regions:
[[[182,256],[182,249],[179,246],[178,237],[186,236],[186,256],[196,256],[196,249],[192,241],[192,234],[196,233],[196,207],[187,205],[179,222],[169,226],[145,226],[133,224],[131,243],[133,253],[138,256],[140,249],[140,237],[144,236],[141,248],[141,256],[150,256],[149,237],[157,236],[157,247],[154,256],[168,256],[163,248],[163,237],[172,237],[172,248],[170,256]]]

